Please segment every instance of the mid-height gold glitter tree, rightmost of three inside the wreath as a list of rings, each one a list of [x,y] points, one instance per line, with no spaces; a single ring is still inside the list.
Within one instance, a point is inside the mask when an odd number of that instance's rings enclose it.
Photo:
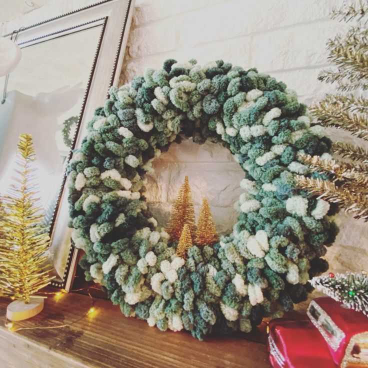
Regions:
[[[194,242],[197,245],[212,245],[217,241],[218,234],[212,218],[212,213],[209,209],[207,199],[204,198],[200,209]]]

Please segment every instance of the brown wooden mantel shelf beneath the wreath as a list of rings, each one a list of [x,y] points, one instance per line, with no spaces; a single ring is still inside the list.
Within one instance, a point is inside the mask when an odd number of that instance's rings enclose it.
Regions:
[[[0,298],[2,320],[8,303]],[[95,299],[96,311],[83,317],[89,306],[85,295],[52,295],[40,314],[14,322],[13,328],[77,320],[71,326],[14,332],[1,323],[1,368],[269,368],[264,327],[251,334],[215,335],[198,341],[184,331],[161,332],[146,321],[126,318],[109,300]]]

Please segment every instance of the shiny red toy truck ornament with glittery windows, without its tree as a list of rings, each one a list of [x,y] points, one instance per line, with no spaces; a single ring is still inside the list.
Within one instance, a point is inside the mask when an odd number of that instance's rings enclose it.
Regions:
[[[309,319],[268,325],[273,368],[368,367],[368,317],[325,296],[309,303]]]

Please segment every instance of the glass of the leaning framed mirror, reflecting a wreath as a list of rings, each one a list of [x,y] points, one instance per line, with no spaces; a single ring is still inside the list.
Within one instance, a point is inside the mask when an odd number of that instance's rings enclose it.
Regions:
[[[22,41],[22,57],[9,75],[6,99],[0,104],[0,194],[5,194],[12,182],[19,134],[29,133],[47,223],[59,201],[102,27],[98,21],[88,28],[60,31],[51,38],[47,35],[47,40],[40,38],[36,43]],[[1,77],[0,90],[4,81],[5,77]],[[69,249],[70,246],[61,248],[54,243],[50,248],[55,273],[61,279]]]

